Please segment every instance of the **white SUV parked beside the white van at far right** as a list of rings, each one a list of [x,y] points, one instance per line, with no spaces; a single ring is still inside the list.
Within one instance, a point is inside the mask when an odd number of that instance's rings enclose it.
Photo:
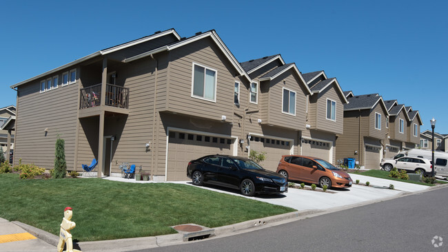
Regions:
[[[420,172],[423,176],[429,175],[432,172],[431,161],[426,158],[414,158],[404,156],[397,159],[383,159],[380,163],[385,171],[390,171],[392,168],[403,169],[407,171]],[[436,169],[434,169],[436,175]]]

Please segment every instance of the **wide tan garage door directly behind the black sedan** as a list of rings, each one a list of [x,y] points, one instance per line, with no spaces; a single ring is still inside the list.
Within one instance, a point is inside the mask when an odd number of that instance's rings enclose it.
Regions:
[[[170,131],[168,140],[167,180],[189,180],[187,165],[190,160],[212,154],[232,155],[234,139],[210,136],[207,133]]]

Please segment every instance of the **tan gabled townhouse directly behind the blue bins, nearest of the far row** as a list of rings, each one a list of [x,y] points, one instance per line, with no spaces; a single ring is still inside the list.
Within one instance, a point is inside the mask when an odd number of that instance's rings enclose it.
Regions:
[[[385,150],[389,116],[383,98],[378,94],[353,96],[346,93],[344,134],[336,139],[336,159],[355,158],[361,167],[379,169]]]

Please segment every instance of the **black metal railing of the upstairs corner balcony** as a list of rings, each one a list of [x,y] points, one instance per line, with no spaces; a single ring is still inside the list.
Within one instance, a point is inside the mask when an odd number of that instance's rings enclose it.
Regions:
[[[85,87],[80,90],[79,109],[101,105],[101,84]],[[117,85],[106,84],[105,105],[128,109],[129,89]]]

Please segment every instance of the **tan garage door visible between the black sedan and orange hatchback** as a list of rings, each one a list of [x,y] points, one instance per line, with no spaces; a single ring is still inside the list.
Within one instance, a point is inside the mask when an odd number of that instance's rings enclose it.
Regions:
[[[281,156],[291,154],[291,147],[292,142],[285,139],[252,136],[250,141],[250,149],[258,152],[266,152],[266,159],[260,165],[270,171],[277,170]]]

